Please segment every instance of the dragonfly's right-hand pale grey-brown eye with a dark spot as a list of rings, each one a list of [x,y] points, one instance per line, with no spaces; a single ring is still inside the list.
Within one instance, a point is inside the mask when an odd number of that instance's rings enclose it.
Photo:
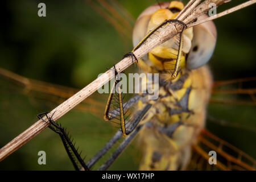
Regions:
[[[207,15],[200,16],[199,20],[205,16]],[[212,21],[193,27],[193,40],[187,59],[187,68],[200,68],[210,60],[216,45],[216,38],[217,31]]]

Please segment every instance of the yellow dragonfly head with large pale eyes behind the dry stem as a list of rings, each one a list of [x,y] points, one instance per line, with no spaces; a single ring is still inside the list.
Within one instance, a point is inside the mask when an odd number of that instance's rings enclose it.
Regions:
[[[172,1],[148,7],[137,19],[133,31],[133,44],[136,46],[148,33],[167,19],[175,19],[177,14],[184,8],[183,3]],[[199,19],[203,16],[199,17]],[[174,73],[175,67],[178,71],[184,68],[196,69],[206,64],[212,56],[216,43],[216,28],[213,22],[200,24],[187,28],[182,34],[181,57],[177,63],[179,50],[179,35],[155,47],[148,53],[149,65],[159,71]],[[199,44],[200,43],[200,44]],[[143,57],[145,58],[145,57]]]

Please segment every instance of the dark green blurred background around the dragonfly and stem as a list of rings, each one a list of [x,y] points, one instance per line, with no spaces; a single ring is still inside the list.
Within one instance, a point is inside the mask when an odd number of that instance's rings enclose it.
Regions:
[[[40,2],[46,3],[46,17],[38,16]],[[241,2],[244,1],[226,4],[217,12]],[[156,2],[120,0],[118,3],[136,19]],[[24,77],[78,89],[89,84],[133,48],[131,31],[123,36],[91,4],[89,1],[3,1],[0,67]],[[255,76],[255,10],[253,5],[214,20],[218,39],[209,63],[214,80]],[[128,28],[125,31],[129,32]],[[50,111],[57,104],[15,92],[17,85],[4,77],[0,77],[0,85],[0,147],[3,147],[36,122],[36,114]],[[256,85],[247,82],[243,86],[255,88]],[[220,94],[213,98],[250,99]],[[208,114],[226,123],[208,121],[209,131],[256,158],[255,104],[211,103]],[[101,118],[73,109],[59,120],[72,133],[87,160],[116,130]],[[41,150],[46,151],[47,165],[37,162]],[[139,155],[136,144],[131,144],[110,169],[138,169]],[[3,160],[0,169],[73,170],[73,166],[60,138],[46,129]]]

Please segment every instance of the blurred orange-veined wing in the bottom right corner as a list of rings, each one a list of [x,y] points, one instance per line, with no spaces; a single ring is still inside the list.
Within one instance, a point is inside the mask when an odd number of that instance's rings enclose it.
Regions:
[[[209,164],[210,151],[216,151],[217,164]],[[193,155],[188,169],[198,170],[255,170],[256,160],[245,152],[203,130],[198,143],[193,146]]]

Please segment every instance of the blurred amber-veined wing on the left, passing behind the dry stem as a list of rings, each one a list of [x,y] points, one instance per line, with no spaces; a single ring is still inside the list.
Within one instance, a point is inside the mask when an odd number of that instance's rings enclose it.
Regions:
[[[0,68],[0,75],[3,80],[13,83],[9,89],[14,89],[30,97],[52,101],[56,104],[61,104],[79,91],[79,89],[23,77],[3,68]],[[6,86],[6,84],[2,85]],[[76,106],[76,109],[87,111],[97,116],[103,116],[102,110],[105,107],[105,100],[104,94],[96,93],[92,98],[86,98],[86,100],[82,101],[80,105]]]

